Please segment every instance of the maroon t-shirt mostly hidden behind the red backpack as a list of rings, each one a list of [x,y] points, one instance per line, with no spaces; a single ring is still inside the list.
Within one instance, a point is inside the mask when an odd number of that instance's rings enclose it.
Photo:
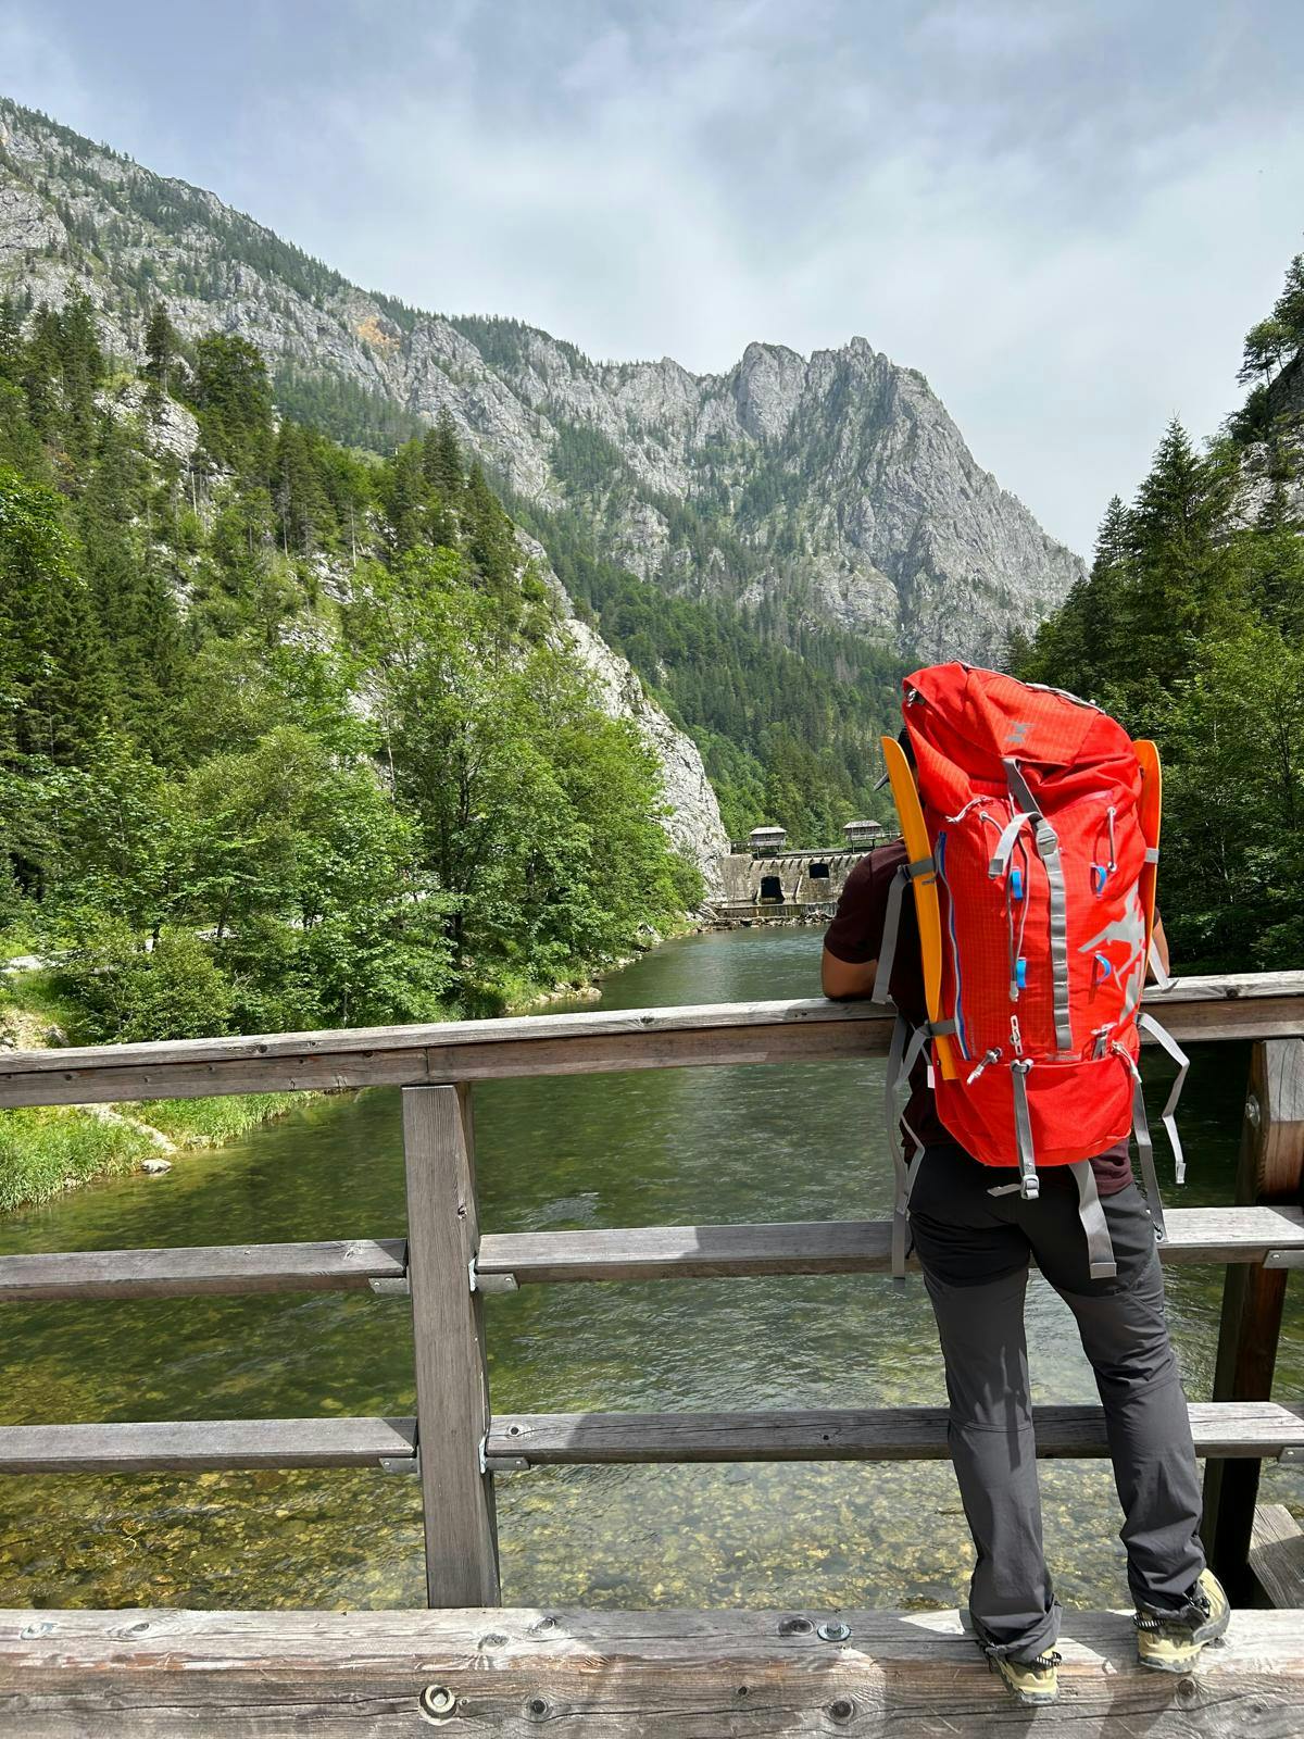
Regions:
[[[847,965],[864,965],[878,958],[883,946],[883,922],[887,918],[887,896],[901,864],[906,863],[906,847],[882,845],[868,852],[847,876],[828,930],[824,946],[836,960]],[[892,979],[888,984],[892,1002],[915,1026],[928,1019],[923,1002],[923,967],[920,963],[920,927],[915,920],[915,899],[909,890],[901,901],[901,927],[897,930],[897,951],[892,958]],[[955,1136],[937,1116],[937,1104],[928,1087],[928,1064],[925,1057],[915,1064],[909,1076],[909,1103],[906,1104],[906,1122],[915,1136],[927,1146],[956,1146]],[[1113,1195],[1132,1183],[1132,1160],[1127,1141],[1116,1143],[1092,1160],[1095,1188],[1101,1195]]]

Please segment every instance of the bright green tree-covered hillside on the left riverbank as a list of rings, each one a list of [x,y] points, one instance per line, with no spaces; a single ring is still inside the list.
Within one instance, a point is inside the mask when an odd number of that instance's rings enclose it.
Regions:
[[[659,765],[450,423],[377,459],[242,337],[155,306],[144,353],[0,303],[0,918],[78,1035],[494,1010],[689,909]]]

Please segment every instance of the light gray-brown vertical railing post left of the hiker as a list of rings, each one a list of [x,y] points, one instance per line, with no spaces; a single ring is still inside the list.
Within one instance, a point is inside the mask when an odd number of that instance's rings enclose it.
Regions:
[[[403,1089],[407,1266],[417,1377],[417,1452],[431,1607],[499,1603],[494,1476],[480,1468],[489,1376],[469,1087]]]

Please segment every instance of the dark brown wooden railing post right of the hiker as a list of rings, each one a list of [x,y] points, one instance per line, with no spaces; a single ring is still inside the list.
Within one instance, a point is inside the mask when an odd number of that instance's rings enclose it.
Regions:
[[[1236,1202],[1297,1203],[1304,1172],[1304,1038],[1254,1047],[1245,1101]],[[1229,1264],[1222,1289],[1215,1402],[1259,1402],[1273,1393],[1287,1269]],[[1259,1462],[1208,1461],[1201,1536],[1214,1572],[1234,1605],[1248,1605],[1248,1569]]]

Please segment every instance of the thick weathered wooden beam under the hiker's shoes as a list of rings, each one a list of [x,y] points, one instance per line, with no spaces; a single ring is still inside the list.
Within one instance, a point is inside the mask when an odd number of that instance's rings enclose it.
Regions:
[[[843,1642],[819,1626],[845,1624]],[[1125,1612],[1066,1612],[1061,1704],[1094,1739],[1297,1739],[1304,1614],[1236,1612],[1186,1678]],[[1024,1732],[958,1612],[0,1612],[0,1730],[23,1739],[937,1739]]]

